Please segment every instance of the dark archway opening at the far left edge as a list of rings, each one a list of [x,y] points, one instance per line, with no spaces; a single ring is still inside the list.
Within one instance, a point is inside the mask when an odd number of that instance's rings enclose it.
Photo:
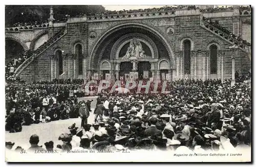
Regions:
[[[5,62],[8,63],[24,52],[23,46],[12,39],[5,40]]]

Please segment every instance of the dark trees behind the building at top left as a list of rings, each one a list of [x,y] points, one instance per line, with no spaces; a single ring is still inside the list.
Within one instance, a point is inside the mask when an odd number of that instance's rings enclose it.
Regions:
[[[76,16],[80,13],[101,13],[105,8],[101,5],[54,5],[54,18],[61,19],[65,15]],[[50,17],[50,5],[6,5],[5,25],[13,26],[17,22],[42,22]]]

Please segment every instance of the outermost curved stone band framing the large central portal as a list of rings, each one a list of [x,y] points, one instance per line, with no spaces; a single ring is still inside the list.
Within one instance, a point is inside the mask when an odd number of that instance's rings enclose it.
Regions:
[[[96,51],[98,50],[98,47],[100,46],[100,44],[104,41],[104,39],[106,37],[112,35],[115,31],[118,31],[120,29],[127,28],[127,27],[130,27],[130,28],[133,28],[133,27],[141,28],[141,29],[144,29],[146,31],[150,31],[151,33],[156,35],[156,37],[158,37],[158,39],[162,42],[162,44],[166,48],[166,50],[168,52],[168,55],[169,55],[169,58],[170,58],[170,61],[172,61],[173,64],[175,64],[174,53],[173,53],[174,49],[168,43],[166,38],[159,31],[157,31],[155,28],[153,28],[152,26],[145,25],[143,23],[135,23],[135,22],[120,23],[119,25],[116,25],[116,26],[113,26],[113,27],[110,27],[109,29],[107,29],[98,38],[98,40],[94,42],[93,49],[92,49],[91,53],[89,54],[90,55],[89,62],[94,62]],[[94,64],[93,63],[89,64],[89,69],[93,69],[93,68],[94,68]]]

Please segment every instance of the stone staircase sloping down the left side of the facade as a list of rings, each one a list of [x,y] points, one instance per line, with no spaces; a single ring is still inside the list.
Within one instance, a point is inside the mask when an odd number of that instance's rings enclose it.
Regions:
[[[67,34],[66,28],[61,29],[59,32],[54,34],[52,38],[50,38],[48,41],[46,41],[44,44],[38,47],[37,50],[35,50],[35,53],[29,57],[27,60],[25,60],[22,64],[20,64],[17,69],[14,71],[14,77],[18,77],[20,73],[30,64],[34,61],[35,58],[39,57],[43,52],[45,52],[50,46],[52,46],[55,42],[57,42],[60,38],[62,38],[64,35]]]

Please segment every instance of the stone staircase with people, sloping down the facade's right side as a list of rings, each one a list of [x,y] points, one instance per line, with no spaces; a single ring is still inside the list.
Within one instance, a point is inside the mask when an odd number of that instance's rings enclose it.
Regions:
[[[218,37],[222,38],[223,40],[227,41],[232,45],[237,45],[240,50],[248,54],[249,59],[251,60],[251,45],[250,43],[244,43],[243,41],[237,40],[230,36],[229,34],[223,32],[222,30],[218,29],[214,25],[211,25],[209,22],[203,20],[201,17],[200,26],[207,31],[217,35]]]

